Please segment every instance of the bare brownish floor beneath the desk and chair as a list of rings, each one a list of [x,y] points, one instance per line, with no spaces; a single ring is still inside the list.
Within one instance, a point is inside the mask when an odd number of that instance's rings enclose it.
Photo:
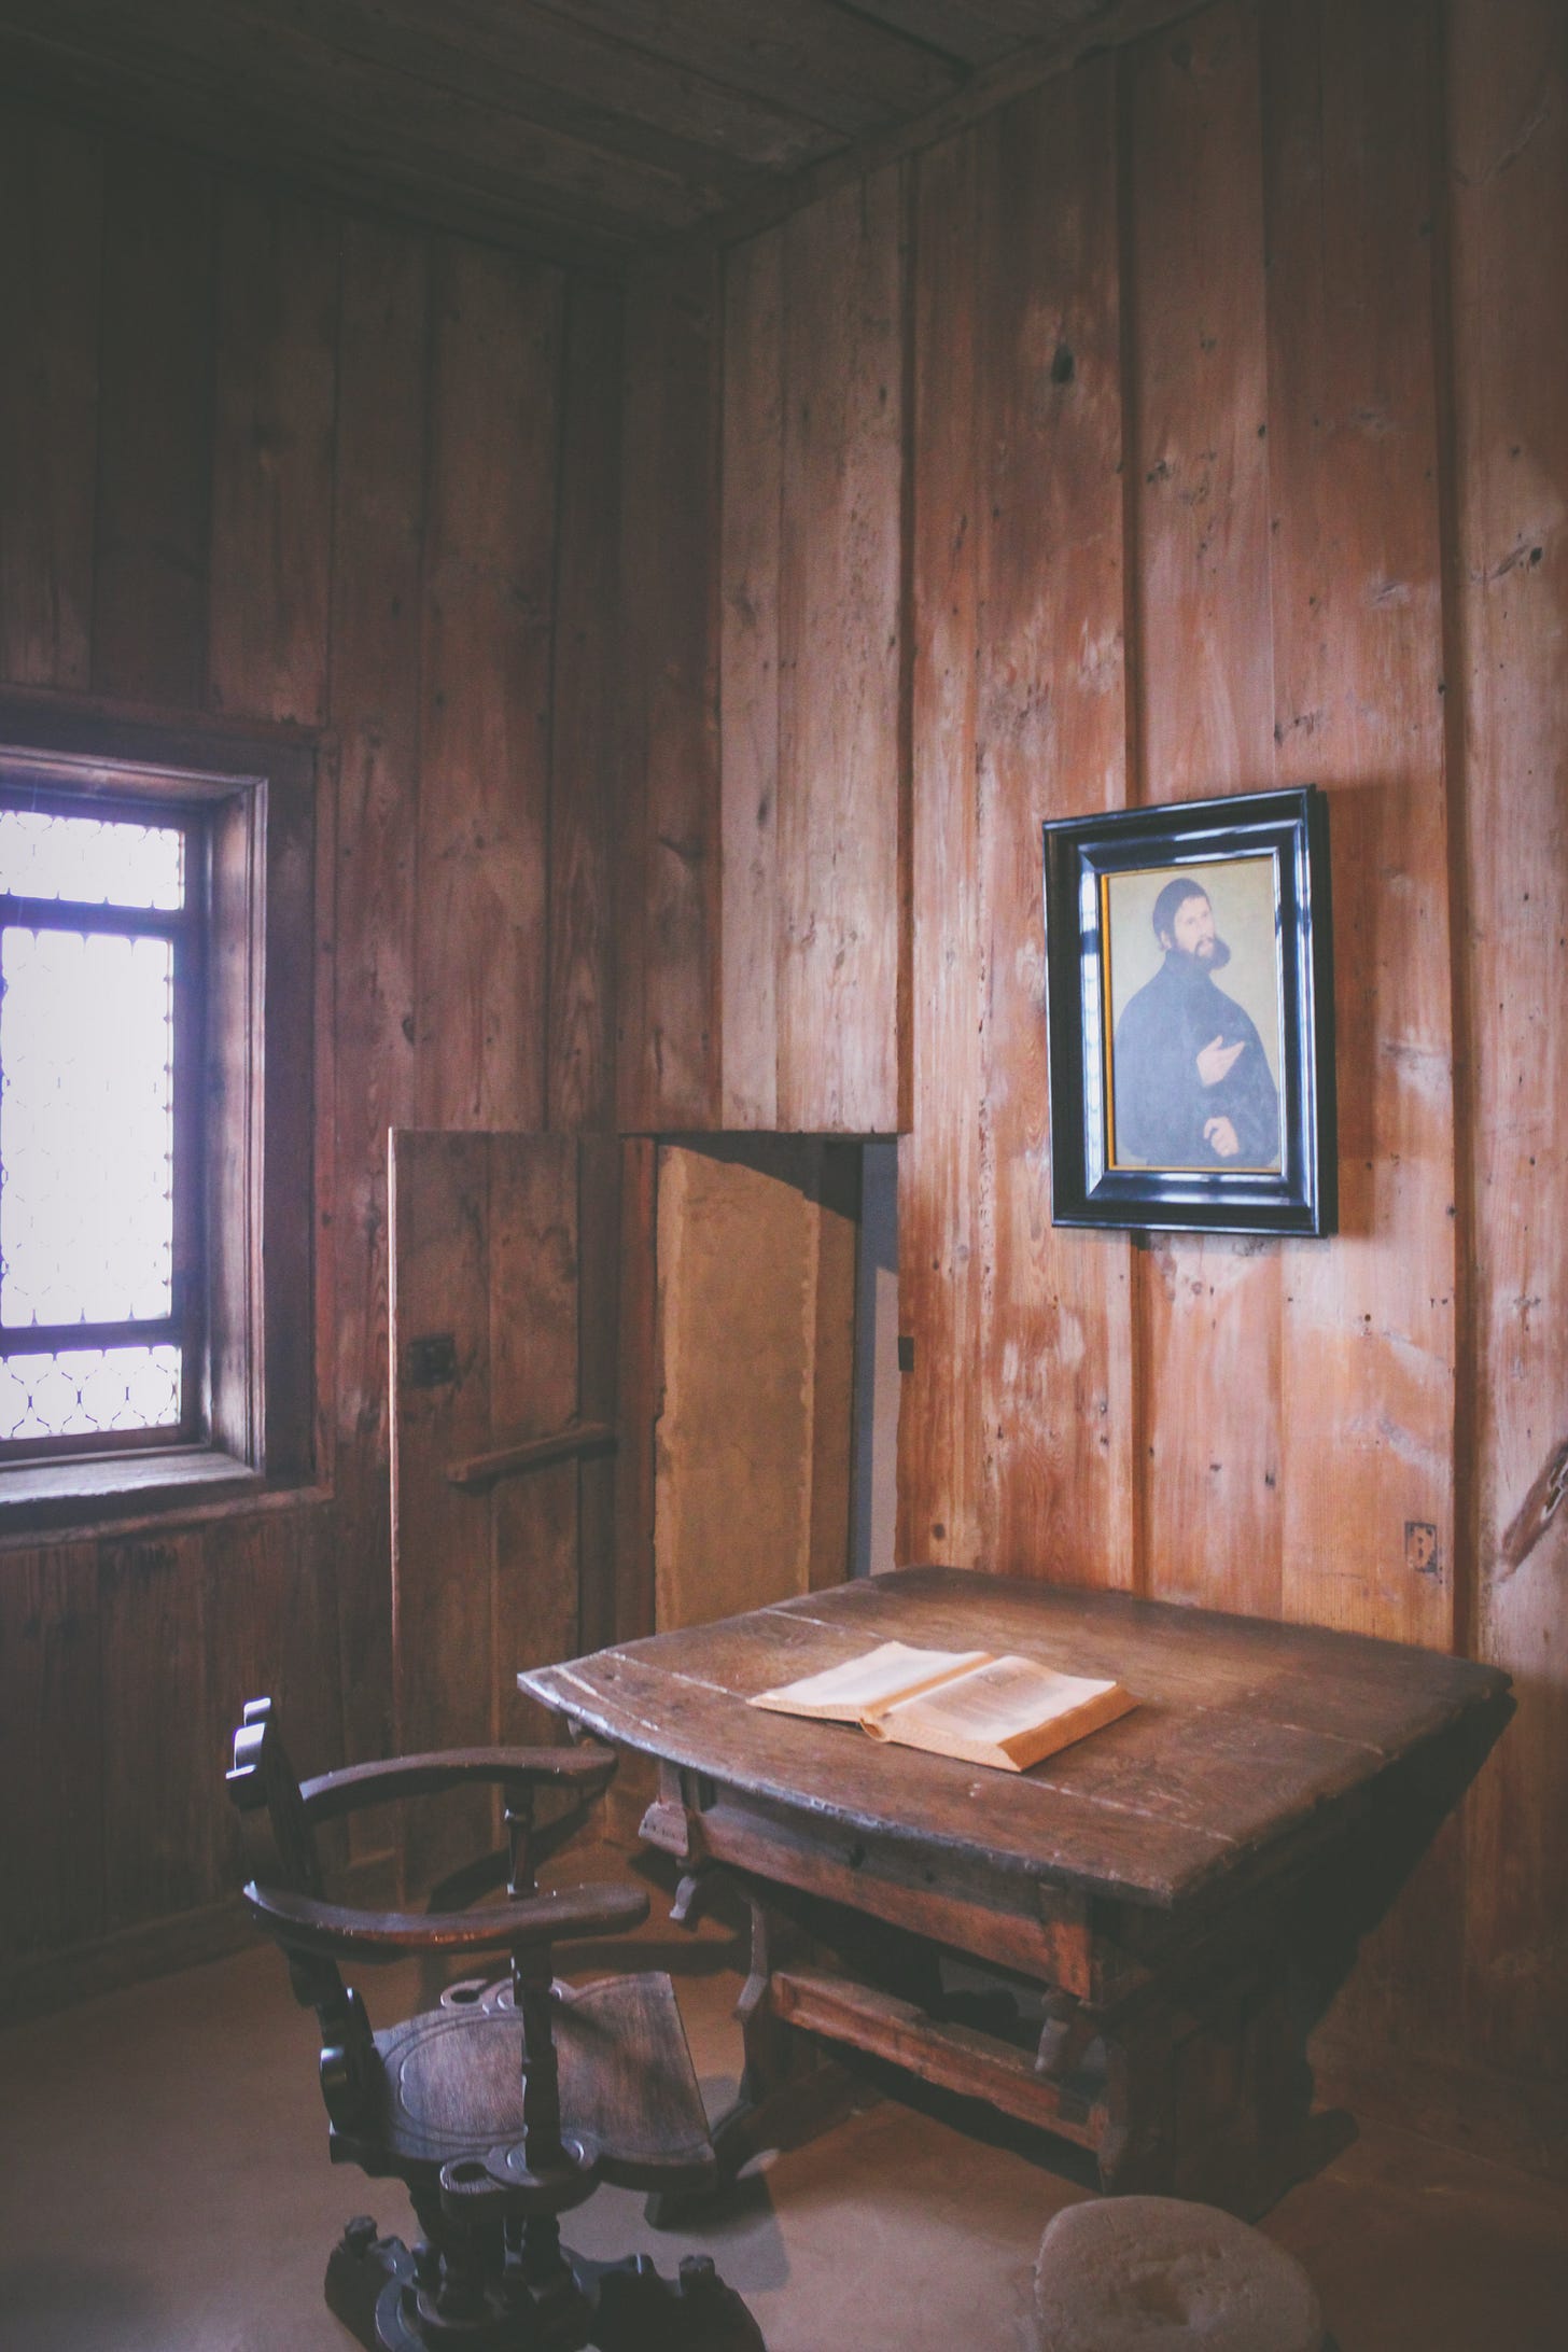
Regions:
[[[644,1931],[679,1966],[710,2107],[733,2091],[731,1924]],[[668,1955],[668,1957],[663,1957]],[[414,1969],[367,1980],[402,2016]],[[190,1969],[0,2034],[5,2352],[339,2352],[320,2300],[341,2223],[409,2230],[395,2183],[327,2164],[313,2020],[270,1950]],[[693,2237],[654,2239],[602,2190],[585,2253],[705,2246],[769,2352],[1034,2352],[1030,2272],[1051,2213],[1086,2194],[1018,2150],[891,2100],[773,2157]],[[1340,2352],[1561,2352],[1568,2183],[1366,2126],[1267,2220],[1312,2272]]]

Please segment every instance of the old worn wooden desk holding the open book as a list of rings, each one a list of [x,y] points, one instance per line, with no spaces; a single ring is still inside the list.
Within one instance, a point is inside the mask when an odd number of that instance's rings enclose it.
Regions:
[[[1114,1675],[1140,1705],[1020,1776],[745,1705],[886,1639]],[[1307,2034],[1512,1715],[1493,1668],[959,1569],[520,1682],[658,1757],[642,1835],[752,1898],[726,2164],[818,2129],[837,2046],[1074,2140],[1107,2190],[1248,2216],[1321,2161]]]

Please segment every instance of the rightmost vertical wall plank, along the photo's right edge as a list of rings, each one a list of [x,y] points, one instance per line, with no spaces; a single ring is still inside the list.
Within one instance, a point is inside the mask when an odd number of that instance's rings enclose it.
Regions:
[[[1467,1820],[1469,2034],[1561,2082],[1568,2018],[1568,19],[1448,12],[1474,1127],[1479,1653],[1519,1717]],[[1559,1479],[1561,1484],[1561,1479]]]

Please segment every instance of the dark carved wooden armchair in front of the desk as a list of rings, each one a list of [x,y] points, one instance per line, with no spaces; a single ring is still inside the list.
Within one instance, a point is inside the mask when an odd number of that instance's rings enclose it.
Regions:
[[[327,2303],[369,2352],[759,2352],[762,2336],[712,2263],[679,2284],[651,2260],[585,2263],[559,2213],[599,2180],[691,2192],[715,2178],[703,2100],[675,1990],[663,1973],[571,1990],[552,1980],[564,1936],[614,1936],[646,1919],[625,1882],[541,1893],[538,1863],[581,1825],[616,1771],[609,1748],[477,1748],[390,1757],[296,1780],[268,1698],[244,1708],[228,1788],[266,1811],[275,1875],[244,1889],[315,2009],[334,2164],[407,2183],[421,2241],[350,2220],[327,2265]],[[505,1795],[508,1851],[470,1870],[505,1875],[505,1900],[447,1912],[346,1910],[324,1896],[315,1828],[357,1806],[475,1783]],[[567,1811],[536,1823],[536,1797]],[[508,1952],[510,1971],[468,1978],[440,2006],[371,2032],[346,1964],[411,1952]],[[343,1964],[343,1966],[341,1966]]]

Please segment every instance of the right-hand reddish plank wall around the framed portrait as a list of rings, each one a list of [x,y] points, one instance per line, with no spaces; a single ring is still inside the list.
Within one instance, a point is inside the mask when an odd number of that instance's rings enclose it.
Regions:
[[[710,569],[649,623],[717,673],[670,1124],[905,1129],[898,1557],[1509,1665],[1345,2018],[1559,2089],[1566,45],[1215,0],[736,245]],[[1056,1235],[1041,818],[1302,781],[1338,1240]]]

